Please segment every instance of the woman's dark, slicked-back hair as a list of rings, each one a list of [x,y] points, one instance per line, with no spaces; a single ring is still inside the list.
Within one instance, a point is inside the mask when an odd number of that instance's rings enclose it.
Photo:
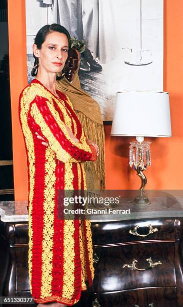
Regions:
[[[41,46],[44,43],[46,36],[51,32],[63,33],[63,34],[66,35],[66,37],[68,39],[68,57],[65,61],[65,64],[66,64],[68,59],[69,59],[69,54],[70,54],[70,50],[71,50],[71,47],[70,47],[71,43],[70,43],[70,34],[68,33],[68,31],[63,26],[60,26],[58,24],[43,26],[37,32],[37,34],[35,36],[34,44],[37,46],[37,49],[41,49]],[[34,54],[33,54],[33,57],[34,57],[34,65],[33,65],[32,71],[31,71],[31,75],[32,75],[32,77],[35,77],[37,75],[39,62],[38,62],[38,58],[35,57]],[[63,77],[63,74],[61,74],[59,77],[56,75],[56,80],[60,80],[62,77]]]

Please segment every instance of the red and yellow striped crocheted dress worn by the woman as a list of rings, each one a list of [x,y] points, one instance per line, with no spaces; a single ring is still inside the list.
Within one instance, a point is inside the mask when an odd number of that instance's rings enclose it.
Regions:
[[[67,96],[57,94],[33,80],[19,99],[28,170],[28,269],[36,302],[72,305],[86,289],[85,280],[91,285],[94,276],[90,221],[58,219],[57,190],[86,189],[83,161],[95,161],[96,152],[87,145]]]

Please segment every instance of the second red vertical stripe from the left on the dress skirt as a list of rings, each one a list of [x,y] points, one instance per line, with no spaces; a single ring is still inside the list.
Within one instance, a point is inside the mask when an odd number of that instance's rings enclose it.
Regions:
[[[64,190],[64,163],[57,160],[55,169],[55,198],[54,198],[54,234],[53,234],[53,259],[52,259],[52,282],[51,295],[62,295],[63,289],[63,230],[64,221],[58,220],[58,190]],[[60,206],[60,204],[59,204]]]

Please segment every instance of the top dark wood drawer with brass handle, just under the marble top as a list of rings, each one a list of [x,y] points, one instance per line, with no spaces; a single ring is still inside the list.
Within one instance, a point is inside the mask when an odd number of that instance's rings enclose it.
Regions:
[[[135,225],[137,227],[135,227]],[[132,241],[175,239],[175,226],[173,219],[91,223],[91,229],[93,245],[95,246]]]

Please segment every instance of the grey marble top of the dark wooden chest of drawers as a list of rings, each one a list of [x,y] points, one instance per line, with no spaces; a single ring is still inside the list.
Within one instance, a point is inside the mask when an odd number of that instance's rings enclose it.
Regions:
[[[175,190],[176,191],[176,190]],[[148,196],[151,204],[145,207],[132,205],[129,198],[123,198],[113,210],[126,210],[127,213],[103,214],[103,211],[97,214],[89,214],[91,222],[149,219],[149,218],[180,218],[183,217],[183,191],[172,194],[164,193],[162,196]],[[92,207],[93,208],[93,207]],[[106,206],[105,206],[106,208]],[[111,207],[110,207],[111,208]],[[103,210],[104,207],[95,207],[94,209]],[[26,201],[1,201],[0,202],[0,220],[2,222],[27,222],[28,211]]]

